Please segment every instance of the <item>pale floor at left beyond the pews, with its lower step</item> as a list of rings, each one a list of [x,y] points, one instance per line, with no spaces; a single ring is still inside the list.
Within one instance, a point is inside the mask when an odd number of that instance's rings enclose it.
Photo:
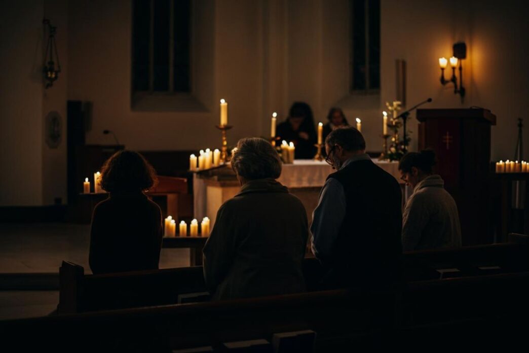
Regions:
[[[0,223],[0,274],[58,273],[62,260],[88,266],[90,226]],[[162,249],[160,268],[189,266],[188,249]],[[0,291],[0,320],[42,316],[57,307],[57,291]]]

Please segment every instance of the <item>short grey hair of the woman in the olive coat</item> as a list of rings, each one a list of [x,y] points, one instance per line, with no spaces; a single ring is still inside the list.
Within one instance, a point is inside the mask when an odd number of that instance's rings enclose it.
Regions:
[[[279,155],[265,139],[240,139],[232,153],[233,170],[246,180],[277,179],[281,175]]]

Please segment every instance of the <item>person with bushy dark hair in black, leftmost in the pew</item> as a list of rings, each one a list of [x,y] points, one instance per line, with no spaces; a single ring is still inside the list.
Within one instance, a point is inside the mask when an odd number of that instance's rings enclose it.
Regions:
[[[156,182],[152,166],[134,151],[119,151],[102,169],[110,193],[92,215],[89,264],[94,274],[157,269],[162,242],[160,207],[143,193]]]

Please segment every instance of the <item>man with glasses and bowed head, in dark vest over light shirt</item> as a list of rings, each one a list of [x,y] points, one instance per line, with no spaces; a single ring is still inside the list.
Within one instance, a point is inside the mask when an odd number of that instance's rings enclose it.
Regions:
[[[399,278],[402,196],[395,177],[366,154],[352,127],[325,139],[327,177],[313,212],[312,251],[325,269],[324,288],[387,288]]]

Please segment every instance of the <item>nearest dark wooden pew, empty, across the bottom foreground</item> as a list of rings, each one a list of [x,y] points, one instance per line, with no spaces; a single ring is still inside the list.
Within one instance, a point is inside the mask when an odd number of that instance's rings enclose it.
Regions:
[[[451,340],[457,336],[476,347],[479,327],[489,328],[489,340],[525,339],[506,334],[529,326],[528,283],[529,272],[413,282],[402,295],[400,326],[384,337],[366,324],[369,293],[345,290],[9,320],[0,322],[0,332],[3,344],[14,343],[17,350],[168,351],[313,330],[316,351],[340,351],[370,347],[381,338],[392,347],[409,347],[417,328],[437,337],[430,342],[435,346],[459,345]]]

